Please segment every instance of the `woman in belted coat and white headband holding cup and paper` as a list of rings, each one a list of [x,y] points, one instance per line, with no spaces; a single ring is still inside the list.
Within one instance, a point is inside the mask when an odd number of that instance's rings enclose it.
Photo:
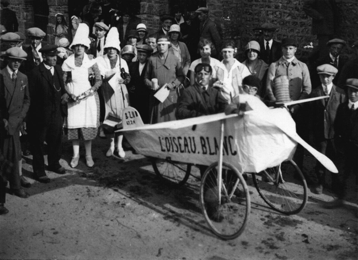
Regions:
[[[157,44],[158,53],[151,56],[148,61],[145,84],[153,90],[153,94],[161,87],[168,89],[169,93],[167,93],[168,96],[164,100],[162,99],[163,102],[151,95],[151,124],[176,120],[178,87],[184,81],[184,74],[179,59],[168,51],[170,45],[168,36],[159,35]],[[152,84],[152,79],[154,79],[153,81],[157,79],[158,83]],[[163,98],[163,95],[161,97]]]

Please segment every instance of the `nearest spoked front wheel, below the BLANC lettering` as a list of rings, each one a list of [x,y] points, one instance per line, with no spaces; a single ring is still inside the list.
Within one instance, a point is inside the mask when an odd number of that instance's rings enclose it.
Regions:
[[[250,195],[245,180],[231,164],[223,162],[219,201],[218,162],[205,171],[200,186],[200,202],[206,222],[221,239],[237,238],[250,215]]]

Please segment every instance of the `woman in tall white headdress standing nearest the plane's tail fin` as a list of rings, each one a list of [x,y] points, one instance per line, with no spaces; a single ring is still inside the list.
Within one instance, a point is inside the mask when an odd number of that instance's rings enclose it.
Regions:
[[[106,110],[103,132],[111,139],[106,156],[112,156],[116,151],[119,157],[124,158],[123,135],[116,136],[114,132],[122,128],[122,112],[124,107],[129,105],[129,95],[125,84],[129,83],[130,76],[127,62],[119,56],[120,49],[118,30],[113,27],[106,37],[104,50],[107,54],[97,57],[96,62],[103,79],[100,88],[105,99]]]

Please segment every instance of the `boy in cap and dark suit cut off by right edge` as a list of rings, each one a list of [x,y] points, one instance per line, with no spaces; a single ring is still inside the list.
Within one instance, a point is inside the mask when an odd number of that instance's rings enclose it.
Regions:
[[[323,206],[334,208],[343,205],[343,199],[347,195],[347,180],[353,174],[355,178],[355,192],[358,185],[358,79],[347,79],[344,87],[348,93],[348,100],[340,104],[334,122],[335,135],[339,138],[344,149],[344,171],[336,183],[335,193],[337,199],[326,202]],[[343,178],[342,178],[343,177]],[[343,179],[343,180],[342,180]],[[355,199],[357,194],[355,194]],[[355,210],[357,217],[357,209]]]

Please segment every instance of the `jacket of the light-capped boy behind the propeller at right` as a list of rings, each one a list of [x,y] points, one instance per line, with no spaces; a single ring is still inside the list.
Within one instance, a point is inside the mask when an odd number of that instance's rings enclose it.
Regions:
[[[311,92],[311,97],[324,96],[322,85]],[[311,101],[310,114],[313,119],[313,134],[317,141],[332,139],[334,137],[334,120],[337,108],[346,100],[345,92],[333,85],[326,102],[324,99]]]

